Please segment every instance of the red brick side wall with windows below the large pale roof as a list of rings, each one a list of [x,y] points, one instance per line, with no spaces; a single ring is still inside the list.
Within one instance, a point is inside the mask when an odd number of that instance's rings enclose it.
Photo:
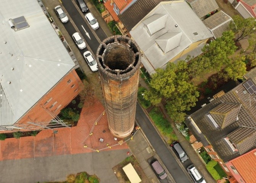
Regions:
[[[69,79],[71,79],[71,82],[68,84]],[[58,84],[56,84],[50,91],[48,91],[48,93],[45,94],[15,124],[29,125],[27,121],[36,123],[37,121],[45,122],[45,121],[52,120],[53,117],[45,109],[50,110],[54,114],[59,114],[60,110],[63,109],[65,106],[67,106],[72,101],[72,99],[74,99],[78,95],[81,89],[82,89],[82,82],[77,76],[76,71],[72,69],[68,74],[66,74],[66,76],[64,76],[58,82]],[[48,101],[49,99],[50,101]],[[52,106],[53,104],[54,106]]]

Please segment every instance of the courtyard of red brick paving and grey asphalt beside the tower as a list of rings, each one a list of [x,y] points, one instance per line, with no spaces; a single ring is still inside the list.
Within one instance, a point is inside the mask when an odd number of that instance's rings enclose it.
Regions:
[[[60,181],[82,171],[101,182],[118,182],[111,168],[127,157],[129,147],[114,140],[99,101],[85,102],[77,126],[55,130],[57,134],[46,129],[35,137],[0,140],[0,182]]]

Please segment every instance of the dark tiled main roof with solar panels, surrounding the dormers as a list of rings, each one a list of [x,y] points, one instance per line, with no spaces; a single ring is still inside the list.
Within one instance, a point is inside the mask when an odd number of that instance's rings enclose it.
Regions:
[[[247,128],[246,133],[242,132],[242,128],[235,131],[241,126],[256,128],[256,101],[253,99],[254,97],[256,98],[256,95],[250,95],[246,92],[246,94],[244,94],[244,90],[246,89],[242,83],[227,92],[224,96],[217,98],[190,115],[198,128],[201,130],[201,137],[204,136],[204,138],[208,140],[224,162],[234,159],[240,156],[240,154],[256,148],[256,144],[253,141],[256,138],[256,133],[251,130],[252,128]],[[207,116],[209,111],[213,110],[222,103],[242,104],[238,114],[238,120],[234,121],[224,129],[216,128],[213,122]],[[188,126],[192,125],[189,119],[186,120],[186,124]],[[193,134],[198,134],[195,128],[190,128],[190,130],[193,132]],[[227,136],[229,136],[232,142],[237,145],[238,151],[233,151],[232,148],[227,144],[224,139]]]

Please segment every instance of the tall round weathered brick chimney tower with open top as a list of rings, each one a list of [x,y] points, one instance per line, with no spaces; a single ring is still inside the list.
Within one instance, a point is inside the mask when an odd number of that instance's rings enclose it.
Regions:
[[[140,60],[137,43],[126,36],[106,38],[97,50],[108,126],[116,137],[134,129]]]

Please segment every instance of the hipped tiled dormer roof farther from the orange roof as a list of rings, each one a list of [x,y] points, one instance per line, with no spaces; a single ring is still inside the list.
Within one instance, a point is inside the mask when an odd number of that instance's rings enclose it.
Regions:
[[[237,120],[242,104],[222,103],[212,109],[209,113],[223,129]]]

